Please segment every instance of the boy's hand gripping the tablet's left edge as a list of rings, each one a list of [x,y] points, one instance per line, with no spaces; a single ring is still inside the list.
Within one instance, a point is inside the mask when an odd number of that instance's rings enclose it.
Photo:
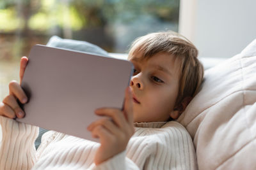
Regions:
[[[22,57],[20,60],[20,83],[27,63],[28,58]],[[24,117],[25,113],[17,103],[17,99],[19,99],[20,103],[26,103],[28,101],[28,97],[20,87],[20,84],[17,81],[11,81],[9,83],[9,95],[4,97],[3,102],[0,103],[0,115],[8,118]]]

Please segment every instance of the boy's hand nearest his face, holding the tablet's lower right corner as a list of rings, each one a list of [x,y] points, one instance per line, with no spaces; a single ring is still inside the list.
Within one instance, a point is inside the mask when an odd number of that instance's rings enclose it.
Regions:
[[[129,87],[125,91],[124,110],[101,108],[95,111],[104,116],[88,126],[94,138],[100,139],[100,147],[94,158],[96,165],[123,152],[134,134],[132,94]]]

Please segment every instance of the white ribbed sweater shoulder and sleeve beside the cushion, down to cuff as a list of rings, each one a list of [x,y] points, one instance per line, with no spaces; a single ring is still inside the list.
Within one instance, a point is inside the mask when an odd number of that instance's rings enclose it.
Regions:
[[[179,123],[142,128],[137,134],[130,139],[126,154],[119,153],[92,169],[197,169],[193,141]]]

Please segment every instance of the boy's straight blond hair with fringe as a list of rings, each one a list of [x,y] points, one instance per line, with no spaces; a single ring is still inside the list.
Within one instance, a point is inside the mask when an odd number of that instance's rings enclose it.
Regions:
[[[195,45],[180,34],[172,31],[156,32],[136,39],[129,50],[129,57],[142,53],[143,59],[156,53],[166,52],[180,59],[179,94],[175,106],[178,107],[185,97],[194,97],[204,77],[204,67],[197,59]],[[129,58],[128,58],[129,59]]]

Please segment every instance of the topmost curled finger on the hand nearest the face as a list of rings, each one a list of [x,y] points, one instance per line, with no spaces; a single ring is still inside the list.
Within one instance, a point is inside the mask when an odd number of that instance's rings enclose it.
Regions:
[[[95,110],[95,113],[99,116],[106,116],[112,118],[112,120],[118,127],[122,127],[127,123],[124,117],[124,113],[122,113],[122,111],[118,109],[100,108]]]

